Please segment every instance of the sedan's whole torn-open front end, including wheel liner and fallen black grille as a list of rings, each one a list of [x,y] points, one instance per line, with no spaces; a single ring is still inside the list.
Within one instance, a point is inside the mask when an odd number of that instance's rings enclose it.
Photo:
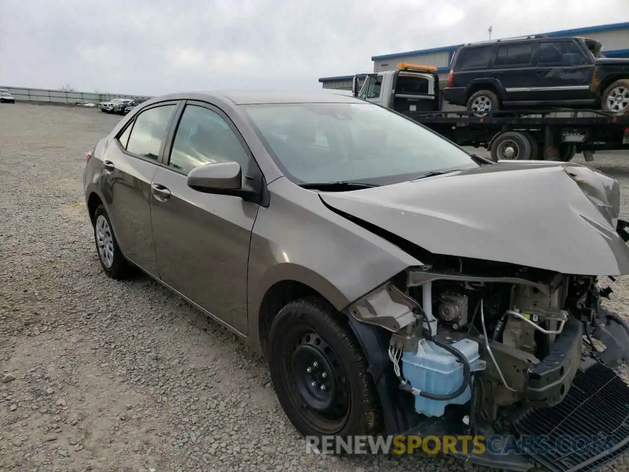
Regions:
[[[613,415],[590,412],[597,402],[629,399],[629,387],[610,369],[629,354],[626,323],[601,308],[601,296],[610,291],[594,276],[442,257],[355,301],[348,307],[350,324],[384,398],[387,434],[501,435],[508,441],[514,434],[604,433],[612,439],[603,452],[551,447],[528,453],[557,471],[589,470],[615,458],[629,442],[625,403],[606,405],[618,410]],[[597,352],[592,338],[606,351]],[[557,417],[559,410],[570,420]],[[504,469],[531,466],[513,451],[454,455]]]

